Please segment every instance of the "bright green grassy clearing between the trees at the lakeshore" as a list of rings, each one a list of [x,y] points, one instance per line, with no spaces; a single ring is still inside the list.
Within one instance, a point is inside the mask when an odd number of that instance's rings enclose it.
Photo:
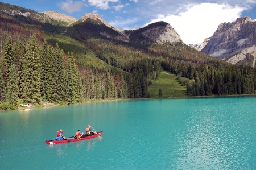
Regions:
[[[158,96],[159,88],[162,89],[163,96]],[[166,71],[160,73],[159,80],[152,82],[148,87],[148,93],[150,98],[188,97],[186,87],[177,82],[176,75]]]

